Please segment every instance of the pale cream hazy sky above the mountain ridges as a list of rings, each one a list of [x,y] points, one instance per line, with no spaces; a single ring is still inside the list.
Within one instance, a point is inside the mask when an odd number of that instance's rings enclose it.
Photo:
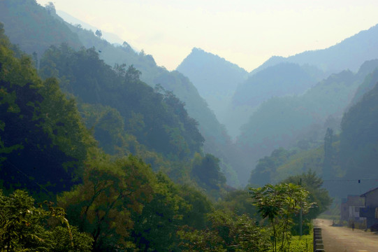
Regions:
[[[196,47],[252,71],[272,55],[327,48],[378,23],[377,0],[52,2],[57,10],[145,50],[168,70]]]

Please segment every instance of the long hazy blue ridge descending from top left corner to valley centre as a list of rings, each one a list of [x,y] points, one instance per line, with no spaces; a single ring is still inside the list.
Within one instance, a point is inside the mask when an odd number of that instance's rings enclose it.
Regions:
[[[20,16],[23,18],[19,18]],[[235,148],[226,129],[208,108],[207,102],[198,94],[189,78],[182,73],[167,71],[164,67],[157,66],[152,55],[146,55],[143,51],[135,52],[126,41],[123,45],[112,45],[100,36],[96,36],[94,31],[64,22],[55,13],[53,4],[44,8],[34,0],[1,1],[0,17],[10,41],[20,45],[24,52],[32,55],[37,68],[50,45],[59,48],[61,43],[66,43],[73,50],[85,46],[85,48],[93,48],[94,52],[98,53],[99,59],[112,68],[117,65],[127,69],[133,65],[140,71],[139,77],[144,83],[152,88],[161,85],[165,90],[173,92],[184,102],[189,116],[198,122],[198,130],[205,139],[203,150],[219,158],[221,171],[227,175],[229,184],[240,185],[236,171],[233,169],[235,165],[232,164],[238,160],[233,159],[229,154],[235,152]],[[27,32],[21,32],[23,30]]]

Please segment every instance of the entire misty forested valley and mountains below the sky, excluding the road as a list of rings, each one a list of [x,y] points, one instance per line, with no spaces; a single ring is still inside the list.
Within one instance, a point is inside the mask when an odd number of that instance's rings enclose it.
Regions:
[[[0,0],[0,251],[299,252],[319,216],[378,226],[342,217],[378,188],[378,25],[168,71],[58,14]]]

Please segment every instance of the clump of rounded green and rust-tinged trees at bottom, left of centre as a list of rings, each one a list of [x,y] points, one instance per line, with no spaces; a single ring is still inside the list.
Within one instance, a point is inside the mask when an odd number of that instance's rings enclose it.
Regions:
[[[210,202],[134,156],[87,162],[83,183],[58,197],[70,221],[94,239],[93,251],[180,251],[176,231],[205,227]]]

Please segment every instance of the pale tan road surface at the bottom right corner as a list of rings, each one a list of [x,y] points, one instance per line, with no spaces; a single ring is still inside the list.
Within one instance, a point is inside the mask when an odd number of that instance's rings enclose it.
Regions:
[[[333,227],[332,221],[316,219],[314,225],[321,228],[326,252],[377,252],[378,235],[363,230]]]

